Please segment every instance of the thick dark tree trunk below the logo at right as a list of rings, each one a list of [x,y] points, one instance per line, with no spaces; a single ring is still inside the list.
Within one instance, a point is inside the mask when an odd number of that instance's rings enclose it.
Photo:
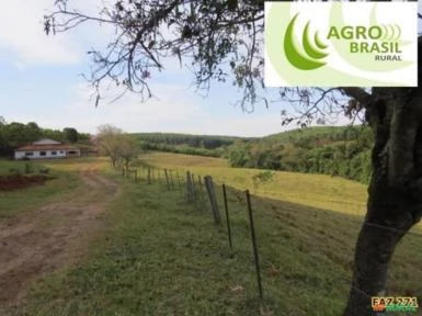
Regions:
[[[373,89],[367,120],[375,132],[374,171],[345,316],[377,315],[370,297],[389,294],[386,281],[396,246],[421,219],[421,119],[420,88]]]

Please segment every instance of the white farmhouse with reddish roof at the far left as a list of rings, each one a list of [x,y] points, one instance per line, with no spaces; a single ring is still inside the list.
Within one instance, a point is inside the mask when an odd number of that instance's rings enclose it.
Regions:
[[[80,157],[80,149],[71,145],[44,138],[14,150],[14,159],[50,159]]]

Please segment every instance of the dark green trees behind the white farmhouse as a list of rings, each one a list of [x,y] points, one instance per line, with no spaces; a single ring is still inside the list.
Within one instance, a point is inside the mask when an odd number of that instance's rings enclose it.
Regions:
[[[64,129],[50,129],[39,127],[35,122],[26,124],[11,122],[7,123],[0,116],[0,156],[11,157],[13,149],[27,145],[39,138],[52,138],[64,143],[84,143],[89,139],[89,134],[78,133],[73,127],[65,127]]]

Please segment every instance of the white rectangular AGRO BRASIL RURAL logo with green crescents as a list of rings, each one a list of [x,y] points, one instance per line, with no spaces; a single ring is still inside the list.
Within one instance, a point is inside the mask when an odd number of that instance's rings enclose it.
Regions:
[[[265,86],[417,87],[417,2],[265,2]]]

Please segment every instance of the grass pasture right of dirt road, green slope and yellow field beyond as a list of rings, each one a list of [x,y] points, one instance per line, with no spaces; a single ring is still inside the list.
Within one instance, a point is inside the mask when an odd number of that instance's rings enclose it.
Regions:
[[[252,189],[252,177],[260,171],[174,154],[144,159],[179,172],[189,168],[212,174],[232,188],[233,251],[225,226],[213,224],[207,204],[186,204],[182,191],[167,191],[163,182],[148,185],[111,176],[121,181],[122,193],[110,205],[107,224],[90,255],[39,280],[23,306],[1,315],[341,315],[364,214],[363,185],[277,172],[272,182],[256,188],[252,204],[264,287],[261,305],[239,191]],[[64,161],[60,168],[72,167]],[[410,235],[399,245],[390,294],[422,300],[421,241]]]

